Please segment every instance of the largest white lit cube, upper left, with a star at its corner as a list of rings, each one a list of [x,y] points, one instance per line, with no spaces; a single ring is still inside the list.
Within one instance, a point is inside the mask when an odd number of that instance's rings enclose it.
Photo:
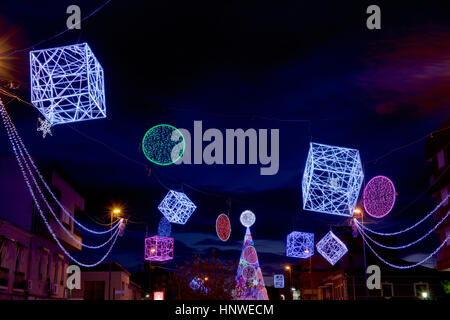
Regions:
[[[52,124],[106,117],[103,68],[87,43],[30,51],[31,102]]]

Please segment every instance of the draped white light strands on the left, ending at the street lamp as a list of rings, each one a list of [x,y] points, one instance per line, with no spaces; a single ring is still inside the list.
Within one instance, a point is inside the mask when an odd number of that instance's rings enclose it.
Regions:
[[[103,247],[104,245],[106,245],[107,243],[109,243],[109,242],[112,241],[111,246],[109,247],[108,251],[106,252],[106,254],[105,254],[99,261],[97,261],[97,262],[95,262],[95,263],[92,263],[92,264],[85,264],[85,263],[82,263],[82,262],[78,261],[78,260],[77,260],[76,258],[74,258],[72,255],[70,255],[70,253],[69,253],[69,252],[64,248],[64,246],[61,244],[61,242],[59,241],[59,239],[58,239],[58,237],[56,236],[55,232],[53,231],[52,227],[50,226],[50,224],[49,224],[47,218],[45,217],[45,214],[44,214],[44,212],[43,212],[43,210],[42,210],[42,208],[41,208],[41,205],[39,204],[39,201],[38,201],[38,199],[36,198],[36,194],[35,194],[35,192],[34,192],[32,186],[31,186],[31,183],[30,183],[30,180],[29,180],[29,178],[28,178],[28,175],[32,178],[32,180],[33,180],[34,184],[36,185],[36,187],[37,187],[37,189],[38,189],[38,192],[39,192],[39,194],[41,195],[42,199],[44,200],[44,202],[46,203],[46,205],[50,208],[49,203],[46,201],[46,199],[45,199],[45,197],[44,197],[44,195],[43,195],[43,193],[42,193],[42,190],[40,189],[40,187],[39,187],[39,185],[38,185],[38,183],[37,183],[37,181],[36,181],[34,175],[32,174],[32,172],[31,172],[31,170],[30,170],[30,168],[29,168],[29,165],[28,165],[28,163],[27,163],[27,161],[26,161],[26,158],[25,158],[25,156],[24,156],[24,154],[23,154],[23,152],[22,152],[22,149],[20,148],[20,144],[19,144],[18,139],[17,139],[17,136],[18,136],[17,131],[15,130],[15,127],[14,127],[14,125],[12,124],[12,121],[11,121],[9,115],[7,114],[6,109],[5,109],[5,107],[4,107],[4,105],[3,105],[3,103],[2,103],[1,100],[0,100],[0,113],[1,113],[1,115],[2,115],[3,123],[4,123],[4,125],[5,125],[6,131],[7,131],[7,134],[8,134],[8,139],[9,139],[9,141],[10,141],[10,143],[11,143],[11,146],[12,146],[12,149],[13,149],[13,152],[14,152],[14,155],[15,155],[15,157],[16,157],[16,160],[17,160],[18,164],[19,164],[20,170],[21,170],[21,172],[22,172],[22,175],[23,175],[23,177],[24,177],[24,180],[25,180],[25,183],[26,183],[26,185],[27,185],[27,187],[28,187],[28,190],[29,190],[29,192],[30,192],[30,195],[31,195],[31,197],[33,198],[33,201],[34,201],[34,203],[35,203],[35,205],[36,205],[36,208],[38,209],[38,212],[39,212],[39,214],[40,214],[42,220],[44,221],[44,224],[46,225],[47,229],[49,230],[49,232],[50,232],[50,234],[52,235],[53,239],[55,240],[56,244],[59,246],[59,248],[60,248],[60,249],[61,249],[61,250],[62,250],[62,251],[63,251],[63,252],[64,252],[64,253],[72,260],[72,261],[74,261],[75,263],[77,263],[77,264],[80,265],[80,266],[83,266],[83,267],[94,267],[94,266],[100,264],[101,262],[103,262],[103,261],[106,259],[106,257],[110,254],[112,248],[114,247],[114,244],[115,244],[115,242],[116,242],[116,240],[117,240],[117,237],[118,237],[118,234],[119,234],[119,232],[118,232],[119,229],[117,229],[116,232],[115,232],[114,234],[111,235],[110,239],[108,239],[107,242],[103,243],[103,244],[100,245],[100,246],[87,246],[87,245],[84,245],[85,247],[91,247],[91,248],[96,248],[96,249],[97,249],[97,248]],[[23,145],[23,142],[22,142],[22,145]],[[24,145],[23,145],[23,147],[24,147]],[[24,147],[24,150],[26,150],[25,147]],[[20,154],[20,156],[19,156],[19,154]],[[27,153],[27,154],[28,154],[28,153]],[[29,154],[28,154],[28,156],[29,156]],[[21,159],[21,157],[22,157],[22,159]],[[23,162],[22,162],[22,161],[23,161]],[[27,175],[27,172],[25,171],[24,163],[25,163],[25,166],[26,166],[27,169],[28,169],[28,175]],[[41,177],[42,177],[42,176],[41,176]],[[53,216],[55,217],[55,220],[58,222],[58,224],[59,224],[60,226],[62,226],[61,222],[60,222],[59,219],[56,217],[56,215],[54,214],[54,212],[53,212],[51,209],[50,209],[50,211],[51,211],[51,213],[53,214]],[[75,219],[74,219],[73,221],[75,221]],[[111,230],[108,230],[108,232],[112,232],[112,230],[113,230],[114,228],[118,228],[122,223],[123,223],[123,221],[121,220],[121,221],[120,221],[119,223],[117,223],[116,226],[114,226]],[[63,226],[62,226],[62,228],[63,228],[65,231],[67,231]],[[106,233],[106,232],[105,232],[105,233]],[[70,235],[71,235],[71,234],[70,234]],[[73,238],[73,237],[72,237],[72,238]],[[74,238],[73,238],[73,239],[74,239]],[[74,240],[77,241],[78,243],[80,243],[80,242],[78,241],[78,239],[75,238]],[[80,244],[81,244],[81,243],[80,243]]]

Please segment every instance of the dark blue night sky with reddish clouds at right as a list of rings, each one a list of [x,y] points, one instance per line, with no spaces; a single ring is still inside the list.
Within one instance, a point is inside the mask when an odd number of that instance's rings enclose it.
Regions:
[[[84,17],[102,1],[40,3],[2,0],[0,33],[10,36],[14,49],[64,30],[68,5],[78,4]],[[108,117],[58,125],[42,139],[37,110],[12,102],[8,111],[39,165],[56,163],[79,186],[86,198],[83,221],[102,218],[112,201],[126,203],[130,224],[114,249],[114,260],[126,268],[143,263],[145,224],[156,233],[157,205],[169,188],[184,190],[198,209],[186,225],[172,225],[176,258],[167,266],[213,249],[237,261],[245,232],[239,215],[250,209],[262,270],[270,275],[295,262],[284,256],[287,233],[311,231],[320,239],[330,225],[348,224],[301,209],[311,141],[359,149],[366,182],[375,175],[393,180],[394,210],[381,221],[369,219],[374,228],[398,230],[434,207],[427,193],[407,207],[429,186],[425,140],[390,153],[423,138],[449,114],[448,1],[421,3],[377,2],[382,29],[368,30],[365,11],[372,3],[361,0],[113,0],[81,31],[35,46],[87,42],[105,71]],[[11,61],[27,100],[28,51]],[[222,132],[279,129],[278,174],[261,176],[259,164],[161,167],[145,158],[140,143],[149,128],[170,123],[192,131],[195,120]],[[0,151],[12,154],[4,130]],[[224,243],[215,220],[227,212],[227,199],[233,232]],[[437,245],[432,236],[404,255],[416,253],[408,258],[413,261]]]

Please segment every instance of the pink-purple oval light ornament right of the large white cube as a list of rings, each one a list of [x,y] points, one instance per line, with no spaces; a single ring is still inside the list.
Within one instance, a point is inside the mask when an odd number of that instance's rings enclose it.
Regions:
[[[385,176],[373,177],[364,188],[363,202],[370,216],[374,218],[386,216],[394,207],[394,184]]]

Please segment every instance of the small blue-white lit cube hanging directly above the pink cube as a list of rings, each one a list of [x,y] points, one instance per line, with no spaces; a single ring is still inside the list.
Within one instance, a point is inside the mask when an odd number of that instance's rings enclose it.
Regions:
[[[197,207],[182,192],[170,190],[158,209],[171,223],[185,224]]]

